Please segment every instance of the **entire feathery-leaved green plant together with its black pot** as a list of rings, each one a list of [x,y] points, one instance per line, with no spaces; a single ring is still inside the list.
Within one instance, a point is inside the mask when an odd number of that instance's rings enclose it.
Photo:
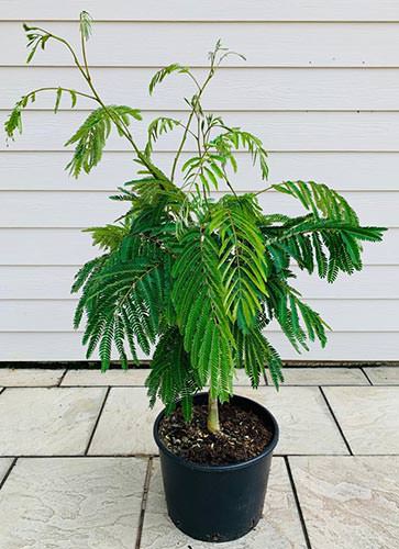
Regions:
[[[276,388],[281,360],[266,328],[277,322],[292,346],[325,345],[328,325],[292,285],[298,267],[334,282],[340,272],[362,269],[362,243],[381,240],[384,228],[361,226],[346,200],[325,184],[286,181],[257,193],[239,193],[231,183],[236,152],[247,150],[261,178],[268,175],[267,154],[252,133],[232,127],[202,109],[203,93],[220,64],[237,55],[217,43],[209,70],[199,80],[189,67],[173,64],[149,82],[153,93],[166,77],[192,81],[185,122],[160,116],[151,122],[144,146],[131,130],[140,110],[107,104],[87,61],[91,19],[80,14],[80,53],[64,37],[24,25],[30,51],[58,42],[70,53],[85,91],[46,87],[30,91],[15,104],[5,132],[22,131],[22,111],[38,93],[55,92],[55,112],[63,96],[71,105],[86,98],[97,107],[66,145],[75,145],[67,169],[74,177],[90,172],[101,160],[111,128],[125,138],[137,176],[112,200],[128,202],[115,223],[88,228],[102,254],[76,274],[81,292],[75,326],[85,316],[87,357],[99,349],[102,369],[111,350],[123,368],[138,363],[138,349],[154,358],[146,386],[151,405],[165,404],[154,426],[159,447],[168,511],[174,523],[195,538],[224,541],[254,527],[262,514],[271,452],[278,427],[259,404],[233,395],[236,368],[258,386],[267,367]],[[170,170],[153,160],[157,139],[177,131],[179,144]],[[188,139],[196,154],[181,163]],[[229,192],[215,193],[220,187]],[[285,193],[303,214],[264,212],[258,197]],[[201,392],[207,388],[207,392]],[[209,389],[208,389],[209,388]]]

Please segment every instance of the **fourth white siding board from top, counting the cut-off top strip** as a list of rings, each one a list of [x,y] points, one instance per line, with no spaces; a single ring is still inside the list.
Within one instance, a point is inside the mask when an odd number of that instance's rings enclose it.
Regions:
[[[399,32],[398,32],[399,35]],[[142,122],[134,122],[133,134],[138,144],[146,143],[146,123],[162,115],[146,112]],[[88,113],[62,111],[27,111],[24,133],[15,143],[0,142],[0,150],[60,150]],[[184,121],[186,116],[170,112]],[[0,124],[5,120],[1,112]],[[228,125],[240,126],[258,135],[267,150],[282,152],[398,152],[399,112],[226,112]],[[175,150],[181,133],[176,130],[158,141],[157,150]],[[196,150],[195,142],[187,150]],[[108,150],[128,150],[129,143],[111,134]]]

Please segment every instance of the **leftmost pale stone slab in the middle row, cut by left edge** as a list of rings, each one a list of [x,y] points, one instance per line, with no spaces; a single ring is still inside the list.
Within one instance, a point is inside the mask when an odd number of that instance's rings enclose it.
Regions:
[[[5,389],[0,395],[0,455],[82,455],[106,389]]]

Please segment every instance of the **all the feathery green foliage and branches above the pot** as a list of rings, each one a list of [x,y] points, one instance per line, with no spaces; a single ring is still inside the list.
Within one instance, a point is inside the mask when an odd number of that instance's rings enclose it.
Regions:
[[[180,399],[186,419],[191,417],[192,395],[207,384],[212,397],[229,399],[235,368],[245,369],[254,388],[268,368],[278,388],[281,359],[267,338],[270,323],[298,352],[312,341],[324,346],[329,328],[295,289],[291,264],[333,282],[340,272],[362,269],[363,243],[380,242],[385,229],[362,226],[347,201],[322,183],[286,181],[269,188],[298,200],[303,208],[300,216],[263,213],[255,194],[236,194],[229,180],[229,170],[237,170],[236,153],[247,152],[263,179],[268,175],[267,153],[257,136],[230,127],[202,108],[204,90],[220,64],[240,55],[220,41],[209,55],[203,80],[178,64],[155,74],[151,93],[175,72],[188,76],[195,89],[186,99],[187,121],[157,117],[148,125],[142,149],[130,128],[132,119],[141,121],[140,111],[107,105],[95,87],[86,54],[90,15],[80,14],[80,54],[44,29],[24,30],[29,60],[49,38],[58,42],[71,55],[90,94],[60,87],[29,92],[5,122],[8,137],[22,132],[21,113],[37,93],[55,92],[55,112],[64,93],[73,107],[82,96],[96,109],[66,144],[76,147],[67,166],[70,173],[78,177],[99,164],[112,127],[128,141],[138,166],[132,180],[111,197],[128,203],[126,213],[113,224],[86,229],[102,250],[82,266],[73,285],[73,292],[80,292],[74,324],[85,325],[87,357],[98,349],[106,370],[114,349],[128,368],[130,360],[138,361],[138,349],[149,354],[155,348],[146,382],[151,404],[159,397],[171,412]],[[170,131],[179,132],[180,142],[167,176],[152,154],[157,139]],[[187,139],[192,139],[196,154],[178,175]],[[211,194],[220,182],[231,193],[215,200]]]

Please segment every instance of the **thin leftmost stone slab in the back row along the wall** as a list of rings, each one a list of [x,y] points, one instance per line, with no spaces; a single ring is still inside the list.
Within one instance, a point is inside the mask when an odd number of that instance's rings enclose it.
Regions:
[[[0,368],[0,385],[54,386],[59,383],[64,372],[42,368]]]

